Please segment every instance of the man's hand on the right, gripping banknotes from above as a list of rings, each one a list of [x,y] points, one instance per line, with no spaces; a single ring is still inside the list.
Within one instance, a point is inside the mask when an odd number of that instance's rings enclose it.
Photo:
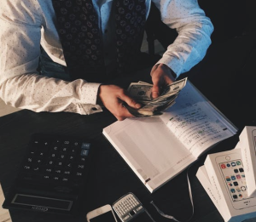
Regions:
[[[172,70],[165,64],[154,65],[151,70],[152,77],[152,98],[155,99],[160,95],[161,88],[175,82]]]

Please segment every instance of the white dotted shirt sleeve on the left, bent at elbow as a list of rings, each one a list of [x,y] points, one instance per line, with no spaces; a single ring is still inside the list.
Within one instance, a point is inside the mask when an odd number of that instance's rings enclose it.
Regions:
[[[3,1],[0,6],[0,97],[8,105],[32,111],[102,111],[96,105],[100,84],[38,75],[43,21],[36,1],[27,2]]]

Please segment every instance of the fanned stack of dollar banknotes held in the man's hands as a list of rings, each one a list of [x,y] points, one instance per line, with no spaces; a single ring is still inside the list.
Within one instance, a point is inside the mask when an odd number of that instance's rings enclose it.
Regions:
[[[131,83],[128,92],[131,97],[142,105],[138,110],[124,104],[126,109],[135,117],[151,117],[161,115],[163,111],[175,103],[177,95],[187,83],[187,77],[174,82],[162,89],[159,97],[152,99],[152,84],[138,82]]]

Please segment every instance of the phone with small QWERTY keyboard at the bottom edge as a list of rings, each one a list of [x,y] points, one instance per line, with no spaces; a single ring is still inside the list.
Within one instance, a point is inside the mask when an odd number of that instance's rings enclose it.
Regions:
[[[137,196],[131,192],[114,202],[113,209],[123,222],[155,222]]]

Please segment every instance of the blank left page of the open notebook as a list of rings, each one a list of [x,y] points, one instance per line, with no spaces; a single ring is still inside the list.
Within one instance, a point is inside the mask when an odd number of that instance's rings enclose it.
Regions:
[[[155,179],[155,186],[195,161],[159,117],[125,119],[114,122],[104,131],[140,179],[143,182]]]

